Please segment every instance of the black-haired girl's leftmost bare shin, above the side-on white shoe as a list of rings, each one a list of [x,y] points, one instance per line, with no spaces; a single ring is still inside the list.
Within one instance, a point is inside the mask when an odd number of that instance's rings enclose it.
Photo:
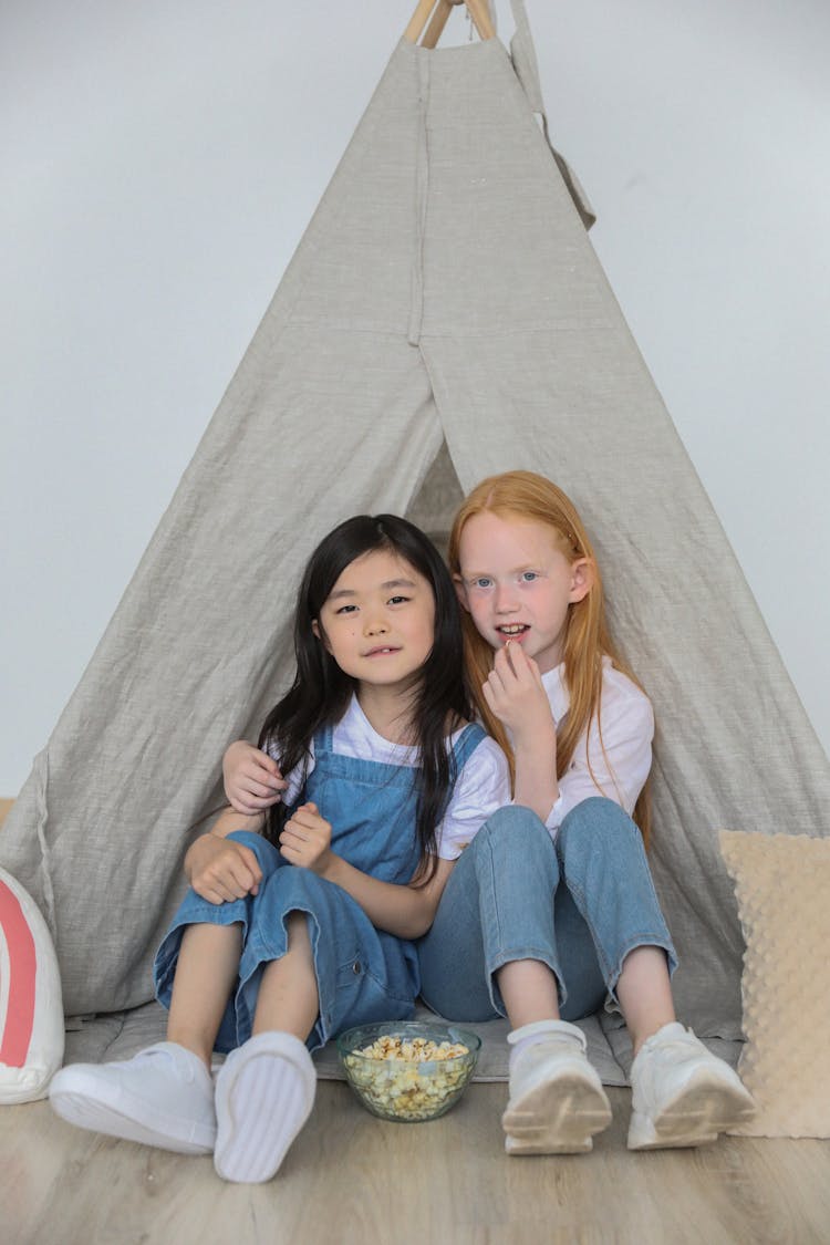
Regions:
[[[210,1068],[219,1025],[239,972],[241,925],[188,925],[182,939],[167,1038]]]

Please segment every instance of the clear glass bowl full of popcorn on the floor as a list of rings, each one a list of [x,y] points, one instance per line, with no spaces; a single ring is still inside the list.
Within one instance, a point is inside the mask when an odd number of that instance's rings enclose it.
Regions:
[[[443,1052],[454,1046],[464,1050],[441,1057],[442,1043]],[[367,1055],[367,1047],[373,1053]],[[480,1047],[482,1038],[470,1030],[428,1021],[358,1025],[337,1038],[341,1067],[360,1102],[381,1119],[407,1123],[437,1119],[454,1107],[473,1076]],[[383,1048],[388,1048],[386,1055]]]

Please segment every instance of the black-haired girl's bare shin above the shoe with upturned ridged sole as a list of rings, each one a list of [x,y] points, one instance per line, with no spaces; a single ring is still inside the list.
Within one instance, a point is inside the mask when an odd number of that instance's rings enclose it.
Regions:
[[[285,955],[280,960],[271,960],[263,972],[254,1033],[279,1030],[294,1033],[305,1042],[320,1011],[305,913],[290,913],[286,928],[289,939]]]

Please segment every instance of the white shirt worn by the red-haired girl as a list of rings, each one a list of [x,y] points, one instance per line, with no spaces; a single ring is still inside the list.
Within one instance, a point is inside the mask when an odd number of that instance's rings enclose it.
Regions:
[[[564,665],[541,676],[556,726],[570,705],[564,676]],[[648,777],[651,741],[655,737],[651,701],[622,671],[613,669],[610,657],[602,659],[600,713],[602,740],[599,721],[594,717],[574,748],[569,768],[559,779],[559,799],[545,820],[554,838],[565,815],[590,796],[606,796],[631,815]]]

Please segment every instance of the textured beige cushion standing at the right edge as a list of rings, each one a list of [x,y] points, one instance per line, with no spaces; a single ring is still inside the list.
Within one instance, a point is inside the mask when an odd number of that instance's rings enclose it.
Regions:
[[[830,1137],[830,839],[720,833],[747,951],[748,1137]]]

